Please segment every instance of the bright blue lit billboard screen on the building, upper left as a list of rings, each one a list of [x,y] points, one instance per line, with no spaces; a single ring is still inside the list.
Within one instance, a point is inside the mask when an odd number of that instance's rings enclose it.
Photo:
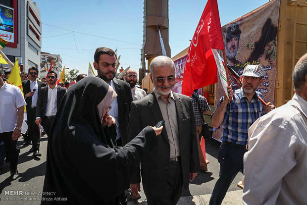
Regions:
[[[14,9],[0,4],[0,37],[14,43]]]

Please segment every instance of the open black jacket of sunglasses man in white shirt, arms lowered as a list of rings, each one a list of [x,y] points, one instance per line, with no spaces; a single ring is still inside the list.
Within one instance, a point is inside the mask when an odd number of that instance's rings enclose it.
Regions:
[[[60,105],[60,102],[62,101],[65,93],[66,93],[66,88],[57,86],[57,91],[56,91],[56,107],[57,108]],[[47,101],[48,101],[48,86],[43,87],[41,89],[41,92],[39,93],[39,97],[38,97],[37,104],[36,104],[36,117],[43,118],[45,116]]]

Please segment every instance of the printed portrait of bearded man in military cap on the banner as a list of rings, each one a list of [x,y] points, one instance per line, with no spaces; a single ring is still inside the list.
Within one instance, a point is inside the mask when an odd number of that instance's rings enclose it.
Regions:
[[[241,63],[239,60],[236,59],[236,54],[239,48],[240,35],[241,35],[241,30],[239,28],[238,23],[233,23],[228,27],[226,33],[225,50],[226,50],[227,63],[229,66],[234,66]],[[235,69],[236,72],[237,70]]]

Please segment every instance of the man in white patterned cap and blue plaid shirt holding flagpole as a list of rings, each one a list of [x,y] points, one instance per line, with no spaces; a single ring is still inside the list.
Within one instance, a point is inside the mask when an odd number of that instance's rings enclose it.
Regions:
[[[234,93],[227,86],[228,96],[222,97],[211,115],[212,127],[222,127],[222,144],[217,154],[220,163],[219,179],[216,181],[209,205],[220,205],[239,171],[243,171],[243,155],[247,152],[248,129],[262,115],[274,109],[256,89],[262,83],[263,70],[259,65],[247,65],[241,75],[242,88]]]

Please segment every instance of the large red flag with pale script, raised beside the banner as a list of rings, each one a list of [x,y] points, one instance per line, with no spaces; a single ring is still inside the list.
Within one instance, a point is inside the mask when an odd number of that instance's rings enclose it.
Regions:
[[[217,83],[217,67],[211,49],[224,50],[216,0],[208,0],[190,44],[182,81],[182,94]]]

